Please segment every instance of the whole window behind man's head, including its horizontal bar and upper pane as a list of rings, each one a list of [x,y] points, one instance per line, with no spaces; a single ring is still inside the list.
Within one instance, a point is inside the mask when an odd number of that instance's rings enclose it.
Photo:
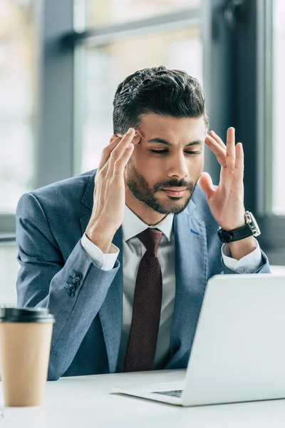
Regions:
[[[90,40],[76,49],[81,71],[75,82],[75,173],[98,166],[113,134],[115,90],[125,77],[165,65],[182,68],[202,83],[201,5],[201,0],[86,0],[86,21],[95,27]]]

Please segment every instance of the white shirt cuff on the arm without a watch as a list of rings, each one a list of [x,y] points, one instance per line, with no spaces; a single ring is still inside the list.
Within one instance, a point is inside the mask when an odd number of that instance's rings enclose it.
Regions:
[[[86,252],[88,257],[93,261],[94,265],[98,269],[102,270],[111,270],[115,265],[115,261],[118,258],[120,250],[115,245],[111,244],[108,254],[104,254],[97,245],[93,244],[90,239],[87,238],[86,233],[84,233],[81,238],[81,245],[83,250]]]

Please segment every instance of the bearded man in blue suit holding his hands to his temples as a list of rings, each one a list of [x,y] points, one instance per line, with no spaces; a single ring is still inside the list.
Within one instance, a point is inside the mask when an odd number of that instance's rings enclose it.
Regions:
[[[113,105],[98,170],[17,208],[19,305],[56,317],[48,379],[186,367],[209,277],[269,272],[245,224],[242,144],[234,128],[227,146],[207,134],[198,81],[146,68]],[[204,143],[221,165],[217,188],[202,173]]]

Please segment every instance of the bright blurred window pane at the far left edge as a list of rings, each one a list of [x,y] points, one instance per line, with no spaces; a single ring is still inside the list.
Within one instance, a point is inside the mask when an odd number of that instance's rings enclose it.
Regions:
[[[0,214],[33,188],[36,65],[33,0],[0,2]]]

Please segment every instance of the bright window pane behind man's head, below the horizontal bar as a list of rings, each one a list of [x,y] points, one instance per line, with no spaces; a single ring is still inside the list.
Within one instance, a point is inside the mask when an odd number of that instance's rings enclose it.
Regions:
[[[86,116],[82,130],[81,171],[98,166],[113,133],[113,97],[118,84],[145,67],[182,68],[202,82],[202,40],[199,27],[133,37],[86,48]]]

